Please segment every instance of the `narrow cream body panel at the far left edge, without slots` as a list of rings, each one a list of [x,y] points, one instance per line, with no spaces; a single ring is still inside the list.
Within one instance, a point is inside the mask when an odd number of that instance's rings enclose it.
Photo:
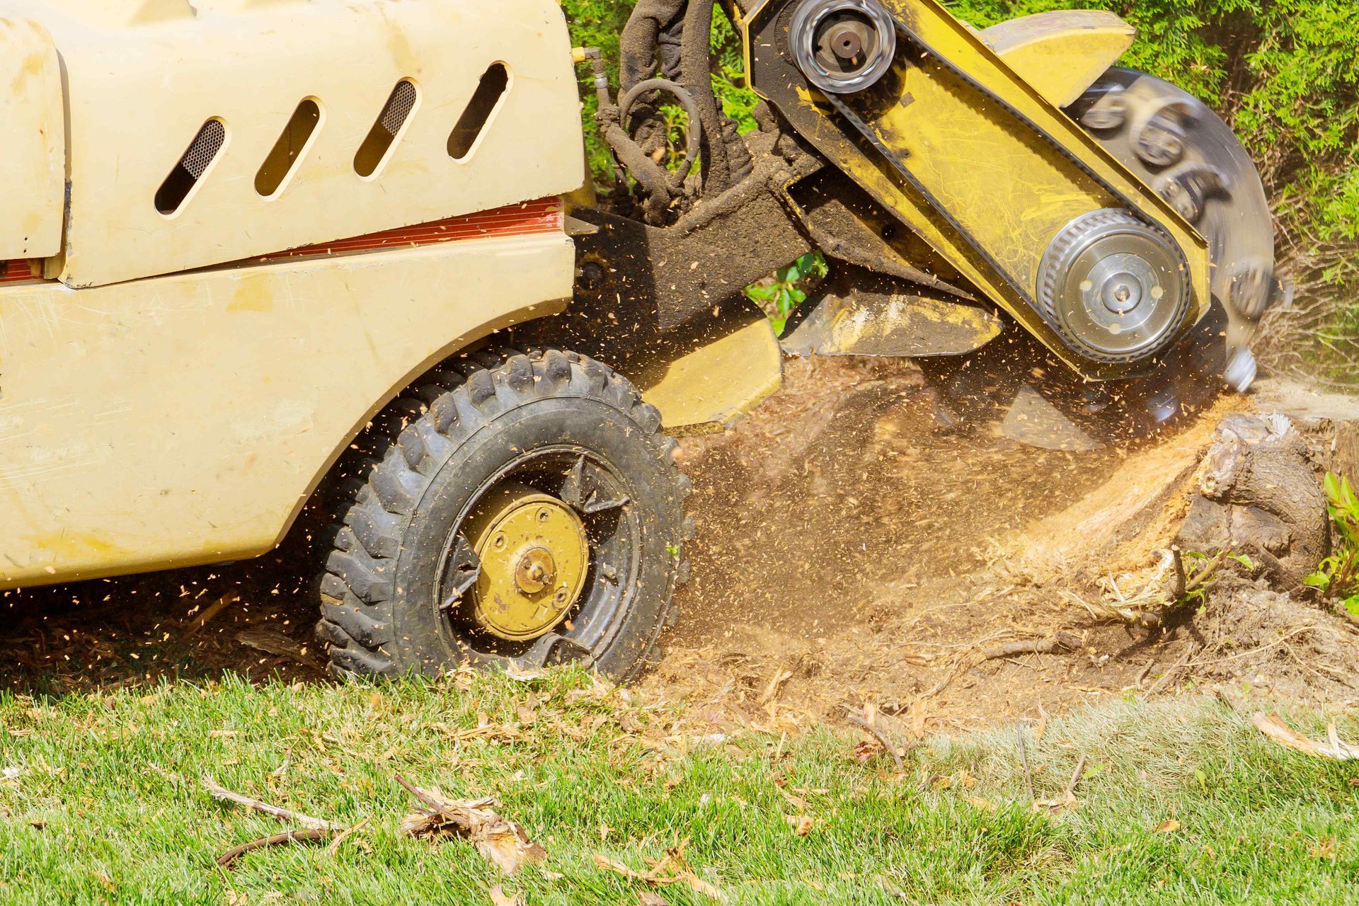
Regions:
[[[61,62],[27,4],[0,4],[0,259],[61,249],[67,186]]]

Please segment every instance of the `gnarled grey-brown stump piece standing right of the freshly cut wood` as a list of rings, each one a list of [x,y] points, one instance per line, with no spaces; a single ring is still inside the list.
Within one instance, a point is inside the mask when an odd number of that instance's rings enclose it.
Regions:
[[[1330,553],[1321,474],[1287,417],[1224,418],[1195,484],[1199,494],[1176,538],[1182,551],[1246,554],[1283,591]]]

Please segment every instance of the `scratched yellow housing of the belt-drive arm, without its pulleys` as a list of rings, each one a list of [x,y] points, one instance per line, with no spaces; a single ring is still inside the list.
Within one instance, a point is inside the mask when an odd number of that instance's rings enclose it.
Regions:
[[[978,33],[935,0],[871,1],[911,30],[919,58],[896,65],[868,107],[805,87],[787,49],[795,4],[754,4],[743,18],[752,86],[800,136],[1079,372],[1117,368],[1074,355],[1034,287],[1044,251],[1082,215],[1131,209],[1162,227],[1185,255],[1188,323],[1208,311],[1207,240],[1059,109],[1129,46],[1127,24],[1080,11]],[[851,117],[864,140],[847,130]]]

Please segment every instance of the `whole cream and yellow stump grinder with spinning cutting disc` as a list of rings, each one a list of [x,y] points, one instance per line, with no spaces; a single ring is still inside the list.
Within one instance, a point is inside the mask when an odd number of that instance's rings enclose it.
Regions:
[[[1120,19],[722,3],[745,136],[715,0],[640,0],[617,95],[554,0],[0,0],[0,587],[291,531],[338,674],[626,679],[693,535],[670,436],[786,355],[913,359],[946,427],[1061,446],[1249,387],[1260,178]],[[743,291],[813,250],[780,340]]]

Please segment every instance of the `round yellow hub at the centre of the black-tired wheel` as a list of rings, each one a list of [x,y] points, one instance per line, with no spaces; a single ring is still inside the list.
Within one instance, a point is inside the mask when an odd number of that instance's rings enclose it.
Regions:
[[[565,619],[590,566],[584,523],[568,504],[506,482],[481,499],[465,532],[481,561],[472,594],[477,625],[527,641]]]

